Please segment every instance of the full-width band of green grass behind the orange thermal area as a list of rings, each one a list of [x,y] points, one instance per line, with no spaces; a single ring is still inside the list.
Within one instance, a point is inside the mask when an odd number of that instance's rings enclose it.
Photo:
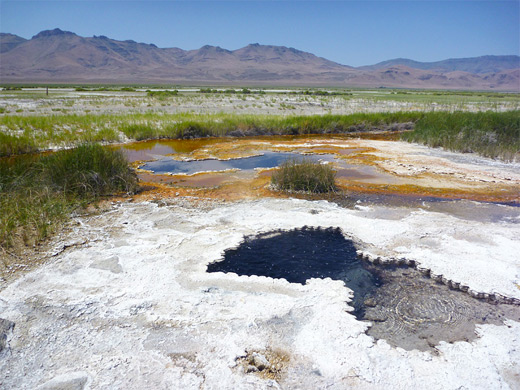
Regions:
[[[341,134],[409,130],[404,140],[483,156],[518,159],[520,111],[397,112],[352,115],[125,114],[4,116],[0,156],[125,139],[189,139],[257,135]]]

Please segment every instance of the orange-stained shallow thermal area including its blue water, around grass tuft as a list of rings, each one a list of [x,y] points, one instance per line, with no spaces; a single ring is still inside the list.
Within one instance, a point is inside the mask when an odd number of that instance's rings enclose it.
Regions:
[[[332,164],[341,193],[329,194],[327,199],[344,207],[390,205],[428,209],[479,221],[520,222],[518,209],[499,206],[518,206],[515,192],[509,188],[488,186],[480,189],[478,183],[482,181],[477,182],[472,177],[461,184],[457,178],[463,178],[465,173],[462,170],[460,174],[453,174],[450,169],[455,168],[443,167],[442,172],[448,174],[437,176],[426,171],[413,173],[413,169],[412,174],[397,174],[381,168],[377,164],[377,153],[374,154],[374,151],[369,151],[370,148],[363,145],[359,140],[339,136],[286,136],[159,140],[125,144],[117,148],[123,151],[129,161],[139,164],[141,169],[138,175],[143,182],[160,183],[188,191],[182,194],[200,196],[197,191],[204,193],[210,190],[213,191],[211,196],[222,196],[225,199],[240,196],[276,197],[280,194],[270,191],[268,187],[272,173],[270,168],[279,166],[289,158],[305,158]],[[418,153],[422,155],[426,152],[420,149]],[[437,157],[446,155],[442,164],[448,163],[450,159],[462,158],[436,150],[431,153]],[[256,168],[266,170],[258,172]],[[486,191],[491,191],[489,197]]]

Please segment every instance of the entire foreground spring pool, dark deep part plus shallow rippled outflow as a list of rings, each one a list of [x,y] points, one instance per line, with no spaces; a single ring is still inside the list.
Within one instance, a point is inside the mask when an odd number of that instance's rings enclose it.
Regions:
[[[438,283],[410,266],[375,265],[357,256],[340,229],[303,227],[245,237],[207,272],[341,280],[353,290],[353,314],[372,324],[368,334],[403,349],[435,352],[441,341],[471,341],[476,324],[520,321],[520,307],[488,302]]]

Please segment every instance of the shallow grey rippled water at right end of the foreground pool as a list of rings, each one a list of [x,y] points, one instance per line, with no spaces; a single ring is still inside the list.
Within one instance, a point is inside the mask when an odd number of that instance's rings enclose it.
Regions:
[[[367,296],[361,319],[372,322],[368,334],[404,349],[428,350],[440,341],[477,337],[475,324],[503,325],[520,320],[520,308],[475,299],[424,276],[416,269],[366,265],[381,280]]]

